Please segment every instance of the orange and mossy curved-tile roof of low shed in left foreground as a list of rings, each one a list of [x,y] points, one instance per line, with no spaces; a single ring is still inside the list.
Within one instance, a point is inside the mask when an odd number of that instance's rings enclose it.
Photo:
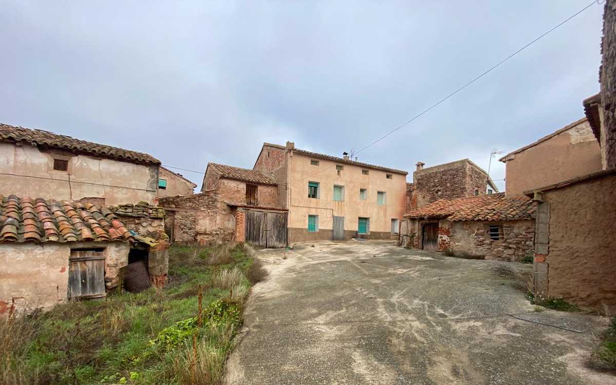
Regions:
[[[131,233],[108,208],[0,195],[0,242],[127,240]]]

